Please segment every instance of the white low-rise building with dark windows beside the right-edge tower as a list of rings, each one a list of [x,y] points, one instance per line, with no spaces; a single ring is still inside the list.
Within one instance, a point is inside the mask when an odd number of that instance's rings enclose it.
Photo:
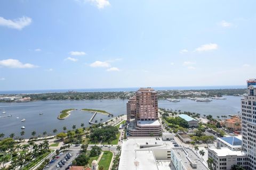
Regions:
[[[213,169],[231,169],[234,165],[247,167],[248,157],[242,150],[231,150],[229,148],[208,148],[208,158],[213,159]]]

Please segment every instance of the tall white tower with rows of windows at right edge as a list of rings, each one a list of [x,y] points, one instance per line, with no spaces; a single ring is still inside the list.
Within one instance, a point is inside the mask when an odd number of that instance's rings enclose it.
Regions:
[[[247,96],[242,105],[242,145],[249,169],[256,169],[256,79],[247,81]]]

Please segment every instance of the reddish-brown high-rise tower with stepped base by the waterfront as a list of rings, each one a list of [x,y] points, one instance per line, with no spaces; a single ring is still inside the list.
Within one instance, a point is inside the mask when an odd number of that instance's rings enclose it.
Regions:
[[[140,88],[127,102],[128,133],[132,136],[158,136],[162,125],[158,121],[157,92],[152,88]]]

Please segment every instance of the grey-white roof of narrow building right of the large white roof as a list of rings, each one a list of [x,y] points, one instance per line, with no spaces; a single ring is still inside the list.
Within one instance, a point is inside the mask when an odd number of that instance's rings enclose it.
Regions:
[[[189,148],[172,148],[174,154],[176,155],[181,163],[186,167],[187,170],[200,169],[208,170],[207,165],[201,161],[198,155]],[[192,168],[190,162],[195,162],[197,168]]]

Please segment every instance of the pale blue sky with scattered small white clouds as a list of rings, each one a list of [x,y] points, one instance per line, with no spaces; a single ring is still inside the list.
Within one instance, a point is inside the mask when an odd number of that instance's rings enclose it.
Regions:
[[[0,1],[0,89],[237,86],[256,1]]]

